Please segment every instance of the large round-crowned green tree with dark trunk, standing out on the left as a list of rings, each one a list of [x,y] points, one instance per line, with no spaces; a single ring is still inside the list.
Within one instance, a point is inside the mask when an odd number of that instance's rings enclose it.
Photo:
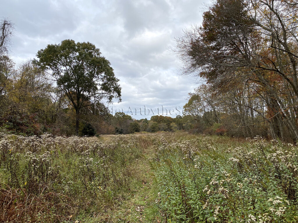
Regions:
[[[76,112],[76,133],[79,131],[80,110],[100,100],[111,103],[121,100],[119,79],[110,62],[89,42],[63,40],[37,52],[35,65],[46,70],[69,98]]]

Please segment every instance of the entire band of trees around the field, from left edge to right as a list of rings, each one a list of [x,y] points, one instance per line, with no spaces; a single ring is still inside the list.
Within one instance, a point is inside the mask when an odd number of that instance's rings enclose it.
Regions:
[[[202,25],[176,39],[183,74],[204,84],[189,93],[182,117],[150,120],[109,114],[103,102],[120,101],[121,87],[91,43],[49,44],[37,59],[15,65],[8,53],[13,24],[3,19],[1,129],[66,135],[188,130],[297,142],[297,18],[294,0],[213,2]]]

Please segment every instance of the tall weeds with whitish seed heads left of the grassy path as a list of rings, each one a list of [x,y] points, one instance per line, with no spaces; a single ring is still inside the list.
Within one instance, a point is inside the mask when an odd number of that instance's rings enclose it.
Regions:
[[[0,222],[74,222],[125,199],[139,138],[0,136]]]

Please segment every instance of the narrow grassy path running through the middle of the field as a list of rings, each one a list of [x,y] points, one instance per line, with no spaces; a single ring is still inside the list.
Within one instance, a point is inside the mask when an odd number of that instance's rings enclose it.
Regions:
[[[134,167],[136,177],[132,182],[134,187],[128,194],[128,199],[111,210],[104,219],[91,222],[162,222],[162,216],[155,203],[158,191],[153,162],[153,147],[144,145],[142,156]]]

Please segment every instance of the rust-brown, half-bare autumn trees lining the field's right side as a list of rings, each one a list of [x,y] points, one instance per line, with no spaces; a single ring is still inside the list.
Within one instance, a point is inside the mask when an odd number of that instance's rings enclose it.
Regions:
[[[217,0],[177,38],[183,72],[202,78],[186,114],[197,130],[298,140],[298,3]]]

